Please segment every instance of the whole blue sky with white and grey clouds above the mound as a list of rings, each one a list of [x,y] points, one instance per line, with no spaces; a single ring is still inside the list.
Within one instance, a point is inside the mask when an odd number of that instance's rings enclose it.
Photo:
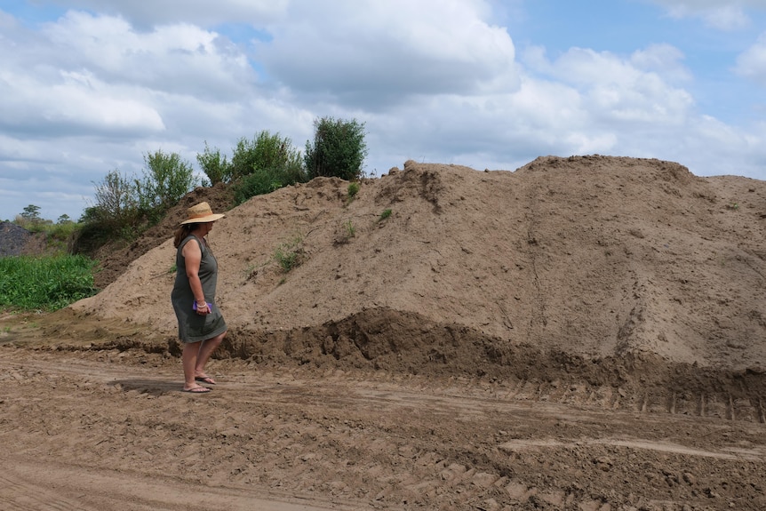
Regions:
[[[658,158],[766,180],[766,0],[0,0],[0,220],[364,124],[363,172]]]

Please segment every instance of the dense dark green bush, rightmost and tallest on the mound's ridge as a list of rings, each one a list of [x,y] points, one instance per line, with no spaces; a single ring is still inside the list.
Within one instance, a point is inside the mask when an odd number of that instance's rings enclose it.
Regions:
[[[328,116],[316,119],[314,128],[314,143],[306,141],[304,156],[309,178],[334,176],[359,180],[367,157],[364,124]]]

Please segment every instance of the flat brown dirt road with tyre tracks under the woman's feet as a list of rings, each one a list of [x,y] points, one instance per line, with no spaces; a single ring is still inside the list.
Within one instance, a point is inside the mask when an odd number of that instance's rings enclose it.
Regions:
[[[189,395],[166,354],[0,346],[0,508],[766,508],[757,414],[585,381],[210,369]]]

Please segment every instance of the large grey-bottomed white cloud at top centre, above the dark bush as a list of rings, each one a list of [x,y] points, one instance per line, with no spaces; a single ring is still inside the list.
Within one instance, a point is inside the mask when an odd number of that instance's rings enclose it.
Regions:
[[[389,104],[410,94],[515,87],[515,47],[476,0],[301,1],[268,28],[259,60],[281,84],[315,97]]]

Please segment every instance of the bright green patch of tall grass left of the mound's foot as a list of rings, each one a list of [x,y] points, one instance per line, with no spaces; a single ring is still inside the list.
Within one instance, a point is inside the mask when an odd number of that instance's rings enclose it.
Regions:
[[[79,255],[0,258],[0,307],[52,311],[92,296],[95,264]]]

